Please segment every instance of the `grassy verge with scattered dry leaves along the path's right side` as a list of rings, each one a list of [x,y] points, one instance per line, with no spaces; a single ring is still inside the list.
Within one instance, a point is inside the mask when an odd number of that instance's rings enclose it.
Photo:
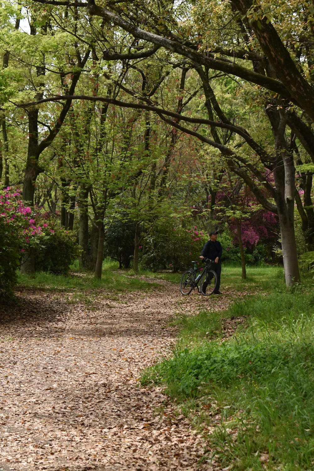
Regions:
[[[313,470],[313,285],[287,292],[280,270],[269,270],[252,270],[245,290],[255,294],[224,313],[245,316],[245,329],[223,339],[217,313],[181,316],[173,355],[141,382],[164,386],[201,429],[204,458],[223,468]]]

